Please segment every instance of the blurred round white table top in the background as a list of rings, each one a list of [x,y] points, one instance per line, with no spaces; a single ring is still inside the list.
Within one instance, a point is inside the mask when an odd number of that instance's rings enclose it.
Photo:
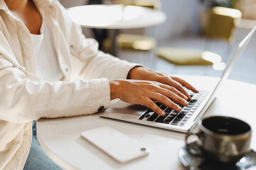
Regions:
[[[86,5],[68,8],[70,18],[87,28],[146,28],[164,23],[162,11],[141,6]]]

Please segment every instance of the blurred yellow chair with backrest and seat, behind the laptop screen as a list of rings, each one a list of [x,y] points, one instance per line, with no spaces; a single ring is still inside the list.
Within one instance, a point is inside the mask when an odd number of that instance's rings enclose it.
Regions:
[[[235,28],[242,13],[233,8],[214,7],[210,9],[208,24],[204,30],[207,39],[218,38],[233,43]],[[206,44],[208,42],[206,41]],[[157,55],[176,65],[212,65],[221,62],[220,55],[205,50],[186,47],[161,47]]]

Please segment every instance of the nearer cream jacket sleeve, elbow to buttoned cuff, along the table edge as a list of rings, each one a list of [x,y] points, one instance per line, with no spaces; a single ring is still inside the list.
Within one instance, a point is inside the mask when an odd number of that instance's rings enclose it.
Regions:
[[[14,67],[0,55],[0,120],[26,123],[39,118],[58,118],[96,113],[110,105],[107,79],[89,81],[32,81],[33,74]]]

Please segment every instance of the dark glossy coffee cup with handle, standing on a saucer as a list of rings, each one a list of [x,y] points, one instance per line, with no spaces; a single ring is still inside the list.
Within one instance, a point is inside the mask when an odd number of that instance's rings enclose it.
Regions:
[[[232,164],[250,151],[252,129],[237,118],[210,116],[198,121],[198,132],[186,135],[186,149],[189,153],[206,157],[211,162]],[[196,135],[201,152],[188,144],[188,137]]]

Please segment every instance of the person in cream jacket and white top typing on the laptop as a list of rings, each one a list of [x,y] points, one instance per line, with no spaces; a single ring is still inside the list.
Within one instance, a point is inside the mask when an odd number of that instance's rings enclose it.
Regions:
[[[154,101],[181,111],[183,86],[198,92],[98,51],[58,1],[0,0],[0,16],[0,169],[23,169],[32,120],[96,113],[114,98],[164,115]]]

